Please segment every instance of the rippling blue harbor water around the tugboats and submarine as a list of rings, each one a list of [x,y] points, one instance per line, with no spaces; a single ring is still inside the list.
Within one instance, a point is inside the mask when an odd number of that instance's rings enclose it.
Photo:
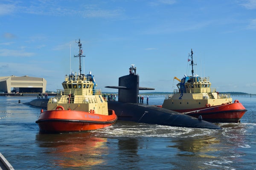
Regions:
[[[18,103],[34,98],[0,96],[0,152],[15,170],[256,170],[256,96],[233,96],[248,111],[222,130],[118,121],[66,134],[39,134],[41,108]]]

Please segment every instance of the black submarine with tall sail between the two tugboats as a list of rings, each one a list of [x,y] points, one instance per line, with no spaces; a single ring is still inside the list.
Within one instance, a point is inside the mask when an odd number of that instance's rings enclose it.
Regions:
[[[154,90],[154,88],[139,86],[139,75],[136,74],[134,65],[129,68],[128,75],[119,77],[118,86],[105,86],[105,88],[118,89],[118,101],[108,101],[108,108],[115,111],[119,120],[173,127],[221,129],[204,121],[202,116],[197,119],[154,105],[139,104],[137,99],[139,90]]]

